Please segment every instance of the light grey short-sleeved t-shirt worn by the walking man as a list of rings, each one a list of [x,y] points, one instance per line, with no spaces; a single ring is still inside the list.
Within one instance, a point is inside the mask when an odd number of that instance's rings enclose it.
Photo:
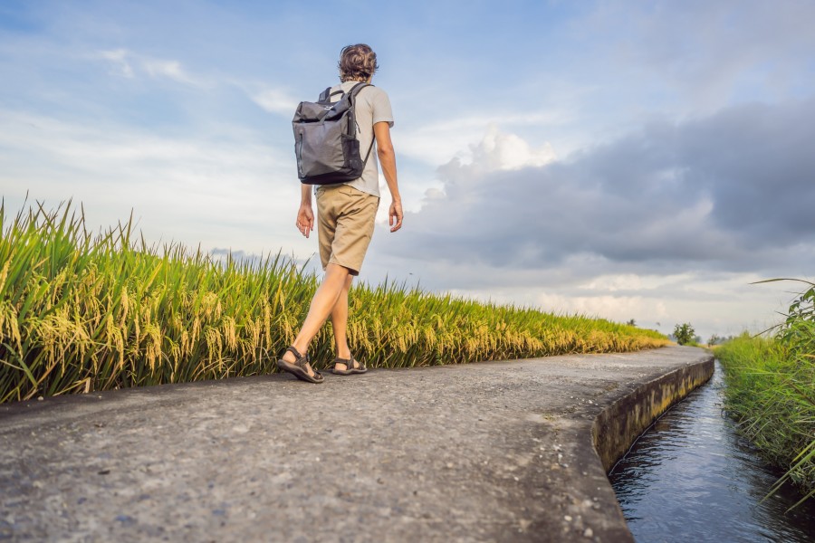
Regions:
[[[359,82],[344,81],[331,87],[331,92],[340,89],[343,92],[348,92]],[[337,94],[332,100],[339,101],[340,96],[340,94]],[[364,160],[371,142],[374,141],[374,124],[387,122],[389,127],[393,127],[393,112],[390,110],[388,94],[373,85],[365,87],[357,94],[354,114],[357,118],[357,139],[360,140],[360,155]],[[345,183],[345,185],[353,186],[369,195],[379,196],[379,161],[377,160],[376,142],[374,142],[373,147],[370,147],[370,155],[368,162],[365,163],[365,169],[362,170],[362,176],[359,179]]]

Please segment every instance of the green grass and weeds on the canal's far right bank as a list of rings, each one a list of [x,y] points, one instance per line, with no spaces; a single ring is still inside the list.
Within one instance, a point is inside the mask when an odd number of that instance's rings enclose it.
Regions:
[[[716,349],[727,410],[742,432],[786,473],[801,501],[815,496],[815,283],[793,300],[772,338],[743,335]]]

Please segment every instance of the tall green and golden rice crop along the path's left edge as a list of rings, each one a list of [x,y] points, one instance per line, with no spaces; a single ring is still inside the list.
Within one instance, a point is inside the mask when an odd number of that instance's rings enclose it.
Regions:
[[[6,224],[8,222],[8,224]],[[70,203],[0,207],[0,402],[273,371],[317,287],[291,260],[225,262],[149,246],[132,221],[91,234]],[[665,345],[656,332],[434,295],[356,286],[348,335],[371,367],[414,367]],[[312,344],[333,355],[331,325]]]

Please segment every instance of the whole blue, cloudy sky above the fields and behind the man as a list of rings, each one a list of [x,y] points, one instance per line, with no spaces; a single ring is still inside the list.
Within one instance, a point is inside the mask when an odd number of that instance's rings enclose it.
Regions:
[[[799,290],[753,282],[813,280],[815,2],[407,6],[4,0],[6,213],[313,264],[293,112],[369,43],[407,213],[389,233],[384,190],[362,281],[706,339]]]

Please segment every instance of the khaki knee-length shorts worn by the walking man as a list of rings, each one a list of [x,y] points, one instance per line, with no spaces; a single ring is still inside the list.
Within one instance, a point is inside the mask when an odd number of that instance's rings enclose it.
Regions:
[[[348,185],[317,189],[317,234],[322,269],[331,264],[359,275],[373,235],[379,197]]]

